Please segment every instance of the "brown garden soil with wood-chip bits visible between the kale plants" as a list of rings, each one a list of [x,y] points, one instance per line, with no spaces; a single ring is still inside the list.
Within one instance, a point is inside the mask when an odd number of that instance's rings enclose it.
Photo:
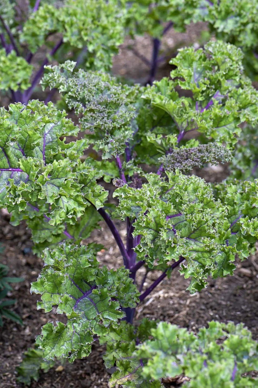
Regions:
[[[203,26],[202,26],[203,28]],[[185,42],[190,37],[195,38],[200,29],[188,29],[186,34],[176,34],[173,31],[167,35],[171,47]],[[171,39],[169,41],[169,39]],[[170,42],[170,43],[169,43]],[[127,42],[130,43],[129,40]],[[164,43],[165,44],[165,43]],[[138,38],[137,48],[150,53],[150,40]],[[146,54],[147,55],[147,54]],[[134,81],[144,82],[147,69],[138,64],[138,59],[132,57],[126,45],[120,50],[120,55],[114,59],[114,73],[130,77]],[[141,71],[135,69],[142,69]],[[164,64],[159,70],[158,78],[168,76],[170,67]],[[205,176],[203,176],[205,174]],[[225,170],[202,170],[202,177],[207,181],[219,181],[224,178]],[[125,225],[116,223],[125,239]],[[113,236],[101,223],[101,230],[95,230],[91,238],[85,242],[95,241],[105,245],[106,250],[98,253],[98,260],[108,268],[122,265],[121,256],[115,245]],[[103,243],[104,240],[104,243]],[[30,232],[22,223],[12,227],[8,217],[0,217],[0,242],[5,248],[0,262],[10,267],[10,276],[23,277],[24,281],[14,284],[12,298],[17,300],[14,311],[20,314],[24,326],[5,320],[0,328],[0,387],[18,388],[15,368],[22,360],[22,353],[33,346],[35,337],[41,332],[41,326],[48,321],[63,320],[55,310],[45,314],[36,308],[39,295],[30,294],[30,284],[36,281],[43,262],[31,253],[32,242]],[[146,289],[157,277],[159,272],[150,272],[144,283]],[[137,282],[141,282],[144,268],[139,270]],[[258,340],[258,256],[252,256],[244,262],[239,262],[234,276],[212,280],[201,293],[190,295],[186,288],[189,279],[184,279],[178,271],[173,272],[170,279],[164,279],[159,286],[140,303],[136,309],[135,322],[143,317],[161,319],[180,327],[196,332],[200,327],[207,326],[210,320],[234,323],[244,322],[251,330],[253,338]],[[83,360],[75,360],[73,364],[56,364],[49,372],[40,373],[38,382],[32,382],[32,388],[107,388],[109,373],[106,371],[102,355],[104,346],[94,344],[92,353]],[[166,387],[181,385],[182,379],[164,381]]]

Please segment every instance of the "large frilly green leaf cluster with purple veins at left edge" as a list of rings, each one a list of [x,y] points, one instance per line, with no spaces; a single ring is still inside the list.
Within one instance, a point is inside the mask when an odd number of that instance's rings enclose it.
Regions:
[[[96,184],[101,171],[80,161],[87,141],[65,142],[79,132],[66,115],[38,100],[1,108],[0,201],[13,225],[27,221],[39,253],[66,237],[88,237],[108,194]]]

